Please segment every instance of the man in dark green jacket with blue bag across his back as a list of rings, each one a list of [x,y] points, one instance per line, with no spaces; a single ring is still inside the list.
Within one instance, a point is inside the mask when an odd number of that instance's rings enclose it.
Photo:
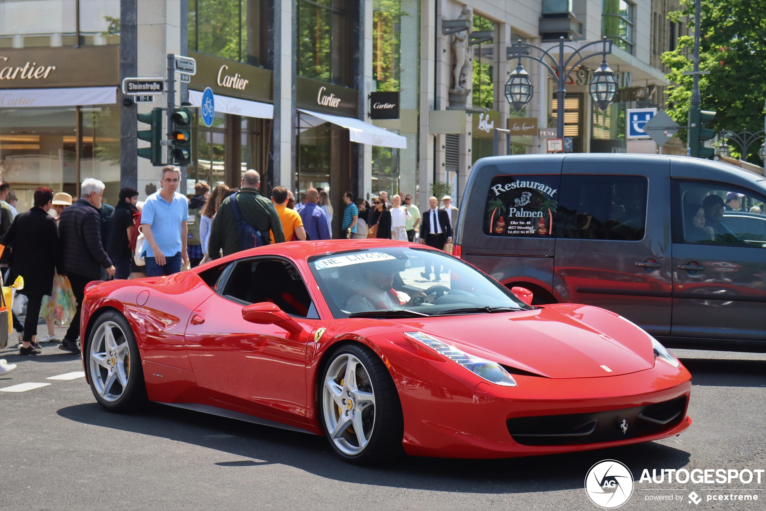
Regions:
[[[264,233],[271,231],[274,234],[274,242],[282,243],[285,241],[285,235],[282,231],[280,215],[277,214],[277,209],[274,208],[270,199],[258,192],[259,185],[258,172],[250,169],[244,173],[242,185],[237,194],[237,209],[242,220],[253,226],[256,231]],[[210,241],[208,241],[208,254],[211,259],[221,257],[221,250],[224,251],[224,256],[240,251],[237,221],[234,220],[234,211],[231,211],[233,197],[234,195],[229,195],[224,199],[213,220]],[[268,244],[269,237],[264,236],[264,241]]]

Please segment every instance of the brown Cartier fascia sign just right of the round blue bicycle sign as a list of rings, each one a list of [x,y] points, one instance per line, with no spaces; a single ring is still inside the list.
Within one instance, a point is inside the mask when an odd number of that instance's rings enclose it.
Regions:
[[[194,51],[189,52],[189,57],[197,61],[197,73],[191,76],[189,88],[205,90],[210,87],[221,96],[266,103],[273,101],[272,70]]]

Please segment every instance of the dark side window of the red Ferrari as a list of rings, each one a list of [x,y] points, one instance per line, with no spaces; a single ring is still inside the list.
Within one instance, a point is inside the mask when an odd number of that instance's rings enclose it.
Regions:
[[[249,259],[237,262],[221,294],[248,305],[276,303],[292,316],[319,318],[303,277],[286,260]]]

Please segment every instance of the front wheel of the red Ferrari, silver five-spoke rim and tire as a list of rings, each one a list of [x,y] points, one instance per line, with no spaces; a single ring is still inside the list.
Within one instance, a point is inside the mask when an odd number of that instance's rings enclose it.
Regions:
[[[371,386],[375,399],[375,405],[372,410],[374,412],[374,418],[368,421],[372,423],[372,431],[368,438],[368,443],[358,453],[349,453],[348,450],[344,452],[344,449],[336,444],[336,441],[332,438],[332,431],[329,429],[328,421],[326,420],[328,417],[326,414],[329,414],[330,421],[332,421],[332,417],[335,416],[336,423],[339,422],[339,418],[337,417],[339,415],[340,406],[336,404],[336,401],[332,401],[330,406],[338,406],[338,410],[336,411],[336,408],[328,408],[326,402],[326,397],[328,396],[326,395],[326,391],[332,392],[329,388],[326,390],[326,382],[330,377],[330,370],[334,369],[334,366],[337,366],[335,362],[339,361],[338,363],[342,364],[342,359],[349,355],[358,359],[358,362],[361,362],[368,375],[368,382],[362,378],[362,381],[358,383],[358,388],[364,390],[365,385]],[[347,360],[351,359],[347,358]],[[402,417],[398,391],[388,369],[386,369],[386,366],[372,349],[356,343],[338,346],[337,348],[332,349],[332,352],[329,353],[326,358],[326,363],[323,365],[322,371],[320,371],[319,374],[320,379],[317,385],[319,390],[319,416],[327,440],[329,441],[332,450],[334,450],[339,457],[352,464],[374,465],[388,463],[391,460],[404,456],[404,447],[402,447],[404,419]],[[358,378],[358,375],[362,373],[358,372],[357,369],[355,374],[356,379]],[[355,403],[349,405],[349,411],[360,413],[360,417],[362,417],[362,414],[368,412],[366,409],[364,409],[364,411],[358,411]],[[352,431],[352,428],[353,424],[351,425],[351,429],[345,431],[345,434]],[[351,434],[353,434],[353,431]],[[342,439],[339,438],[339,441],[342,441]],[[358,444],[359,442],[357,441],[356,443]]]

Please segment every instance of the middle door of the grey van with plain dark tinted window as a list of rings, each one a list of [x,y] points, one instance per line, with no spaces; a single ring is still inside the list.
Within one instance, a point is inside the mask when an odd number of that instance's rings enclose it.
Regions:
[[[568,156],[561,172],[555,289],[668,335],[669,160]]]

